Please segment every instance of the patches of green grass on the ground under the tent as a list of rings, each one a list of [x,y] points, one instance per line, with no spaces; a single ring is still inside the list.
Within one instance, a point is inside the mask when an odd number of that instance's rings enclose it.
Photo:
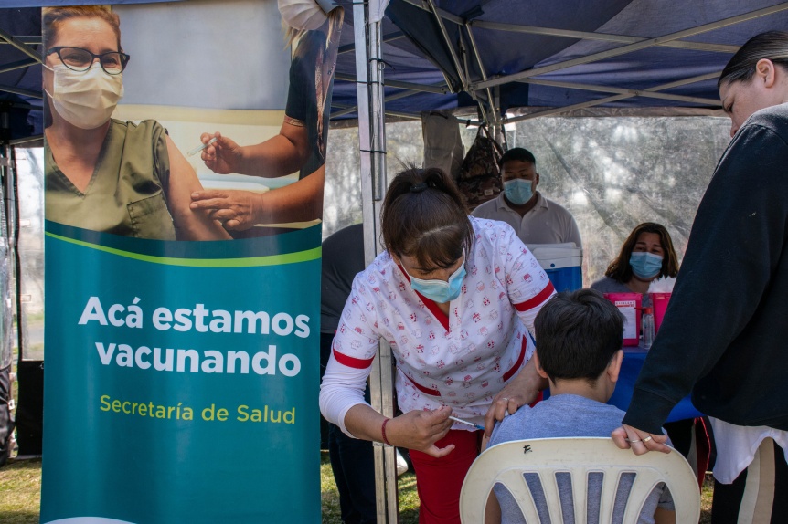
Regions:
[[[416,477],[408,472],[398,479],[399,524],[419,522],[419,496]],[[700,523],[711,522],[711,492],[713,481],[707,475],[701,496]],[[323,524],[341,524],[339,496],[336,492],[328,453],[320,456],[320,491]],[[41,460],[11,461],[0,467],[0,522],[3,524],[37,524],[41,503]]]

